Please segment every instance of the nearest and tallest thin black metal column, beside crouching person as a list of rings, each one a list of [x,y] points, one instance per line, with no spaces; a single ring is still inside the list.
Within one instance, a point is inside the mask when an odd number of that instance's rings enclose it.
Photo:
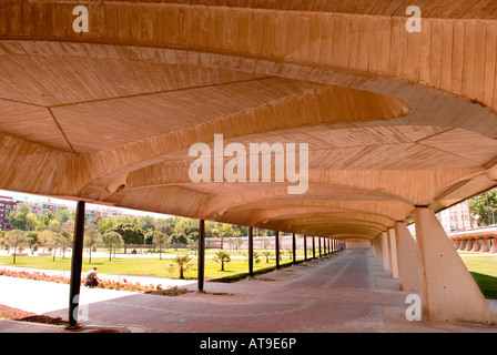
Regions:
[[[79,201],[75,210],[74,241],[72,243],[71,284],[69,291],[69,327],[78,325],[80,304],[81,272],[83,264],[84,201]]]

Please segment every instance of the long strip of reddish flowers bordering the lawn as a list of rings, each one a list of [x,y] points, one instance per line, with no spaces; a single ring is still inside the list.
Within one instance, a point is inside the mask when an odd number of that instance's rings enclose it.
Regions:
[[[48,281],[48,282],[57,282],[60,284],[69,284],[70,278],[61,275],[47,275],[42,272],[27,272],[27,271],[12,271],[7,268],[0,268],[0,276],[10,276],[10,277],[20,277],[28,280],[37,280],[37,281]],[[81,281],[84,284],[84,280]],[[184,288],[179,288],[178,286],[162,288],[161,285],[143,285],[139,282],[128,282],[128,280],[122,278],[119,281],[112,280],[102,280],[97,288],[108,288],[108,290],[116,290],[116,291],[128,291],[128,292],[140,292],[140,293],[153,293],[161,294],[164,296],[178,296],[186,293],[187,291]]]

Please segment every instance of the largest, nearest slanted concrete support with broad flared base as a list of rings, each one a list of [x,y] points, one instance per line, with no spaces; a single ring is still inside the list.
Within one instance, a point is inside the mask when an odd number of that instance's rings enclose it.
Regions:
[[[416,207],[423,316],[430,322],[497,324],[487,301],[428,207]]]

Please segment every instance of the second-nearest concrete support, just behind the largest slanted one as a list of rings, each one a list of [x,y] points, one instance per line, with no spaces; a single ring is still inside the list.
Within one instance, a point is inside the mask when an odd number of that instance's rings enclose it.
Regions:
[[[395,223],[395,237],[399,290],[419,292],[419,253],[416,241],[403,222]]]

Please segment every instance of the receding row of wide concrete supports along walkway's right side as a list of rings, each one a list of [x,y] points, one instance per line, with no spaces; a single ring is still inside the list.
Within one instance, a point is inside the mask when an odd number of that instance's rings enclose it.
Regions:
[[[398,278],[399,290],[420,296],[423,318],[428,322],[497,324],[435,213],[416,207],[414,220],[415,237],[405,223],[396,222],[371,242],[384,270]]]

